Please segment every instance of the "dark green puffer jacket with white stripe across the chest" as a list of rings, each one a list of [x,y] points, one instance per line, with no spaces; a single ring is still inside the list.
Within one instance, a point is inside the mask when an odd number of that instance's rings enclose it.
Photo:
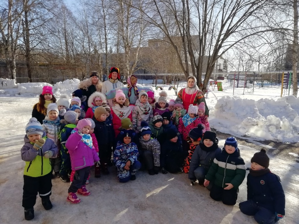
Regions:
[[[227,187],[231,183],[237,190],[246,176],[245,162],[241,158],[239,149],[233,154],[228,154],[225,149],[216,155],[205,179],[214,181],[219,187]]]

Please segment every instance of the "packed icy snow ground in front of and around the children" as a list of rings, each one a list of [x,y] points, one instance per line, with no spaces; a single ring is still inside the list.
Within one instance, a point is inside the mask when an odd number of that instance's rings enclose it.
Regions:
[[[22,207],[23,171],[20,149],[24,143],[25,125],[38,98],[0,97],[0,193],[1,224],[29,223]],[[224,140],[219,146],[223,147]],[[246,167],[257,149],[239,145]],[[270,156],[270,170],[279,175],[286,194],[286,216],[280,224],[295,224],[299,220],[299,163],[294,159]],[[95,179],[92,170],[87,189],[91,196],[80,197],[80,204],[66,202],[69,183],[52,180],[53,208],[45,211],[37,196],[34,220],[30,223],[256,223],[253,217],[239,211],[238,203],[246,200],[246,179],[239,189],[237,204],[228,206],[216,202],[202,186],[190,185],[187,174],[150,176],[137,172],[136,180],[119,183],[115,167],[108,176]],[[248,173],[248,171],[247,171]]]

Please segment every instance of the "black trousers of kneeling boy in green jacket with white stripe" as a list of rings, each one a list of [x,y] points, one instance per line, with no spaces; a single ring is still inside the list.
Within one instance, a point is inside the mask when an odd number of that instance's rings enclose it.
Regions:
[[[215,201],[222,201],[225,205],[235,205],[238,192],[239,189],[235,190],[232,188],[230,190],[224,190],[222,187],[213,184],[210,190],[210,197]]]

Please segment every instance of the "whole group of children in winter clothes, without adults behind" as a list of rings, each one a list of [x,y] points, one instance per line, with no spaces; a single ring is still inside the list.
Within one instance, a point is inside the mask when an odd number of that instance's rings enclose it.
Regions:
[[[49,196],[53,171],[63,182],[71,180],[67,201],[76,204],[80,202],[77,194],[90,195],[86,184],[93,165],[95,177],[109,174],[108,166],[115,165],[119,182],[135,180],[139,169],[150,175],[188,173],[193,185],[198,180],[210,190],[211,198],[235,205],[239,185],[245,179],[245,162],[234,137],[226,139],[223,149],[218,147],[204,103],[190,105],[186,111],[181,102],[168,102],[162,91],[158,102],[153,92],[140,92],[135,105],[130,105],[118,90],[110,107],[100,92],[93,93],[86,106],[81,102],[83,96],[74,96],[79,93],[76,90],[69,105],[67,96],[56,102],[51,89],[44,89],[47,92],[43,90],[38,106],[46,106],[45,119],[42,124],[35,117],[30,119],[21,149],[26,162],[23,188],[26,220],[34,218],[37,193],[44,208],[52,208]],[[251,162],[248,201],[239,204],[240,210],[254,215],[258,223],[274,223],[284,215],[283,189],[278,177],[268,169],[265,151],[254,154]],[[260,181],[263,186],[257,186],[260,178],[264,178],[263,184]],[[261,213],[260,206],[268,213]]]

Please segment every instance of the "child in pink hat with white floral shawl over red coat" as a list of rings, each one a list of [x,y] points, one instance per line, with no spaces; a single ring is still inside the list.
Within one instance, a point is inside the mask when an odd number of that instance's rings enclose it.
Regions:
[[[112,123],[115,132],[115,136],[119,134],[119,127],[121,126],[121,120],[129,118],[132,120],[132,110],[134,105],[129,105],[129,99],[126,99],[126,95],[122,90],[116,90],[115,98],[113,99],[113,107],[111,108]]]

